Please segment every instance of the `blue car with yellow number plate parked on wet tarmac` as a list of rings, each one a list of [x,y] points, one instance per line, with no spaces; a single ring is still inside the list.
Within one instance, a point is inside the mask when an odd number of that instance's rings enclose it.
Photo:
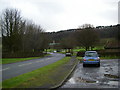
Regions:
[[[97,65],[100,67],[100,58],[96,51],[86,51],[83,57],[83,67],[86,65]]]

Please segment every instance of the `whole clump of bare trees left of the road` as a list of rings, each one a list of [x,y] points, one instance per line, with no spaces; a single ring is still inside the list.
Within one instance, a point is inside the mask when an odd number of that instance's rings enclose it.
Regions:
[[[34,56],[42,55],[48,48],[49,37],[40,25],[22,19],[16,9],[6,9],[0,20],[2,31],[3,56]],[[35,52],[35,53],[34,53]],[[40,53],[41,52],[41,53]],[[20,55],[21,54],[21,55]]]

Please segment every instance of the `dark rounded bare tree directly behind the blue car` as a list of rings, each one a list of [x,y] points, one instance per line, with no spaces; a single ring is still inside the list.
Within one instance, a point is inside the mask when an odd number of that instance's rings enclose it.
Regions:
[[[96,43],[99,41],[99,34],[94,30],[92,27],[87,27],[77,33],[77,40],[78,45],[85,47],[86,51],[92,48],[96,45]]]

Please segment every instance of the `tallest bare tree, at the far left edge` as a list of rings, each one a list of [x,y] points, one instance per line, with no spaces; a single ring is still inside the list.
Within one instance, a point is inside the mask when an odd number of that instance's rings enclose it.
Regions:
[[[6,9],[1,17],[3,51],[16,52],[21,48],[21,31],[24,21],[16,9]]]

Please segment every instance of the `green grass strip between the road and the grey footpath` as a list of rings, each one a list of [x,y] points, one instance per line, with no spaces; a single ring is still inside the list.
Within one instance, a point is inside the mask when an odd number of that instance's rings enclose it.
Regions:
[[[17,77],[2,82],[3,88],[28,88],[38,87],[46,83],[55,83],[50,76],[57,72],[57,68],[69,62],[70,57],[65,57],[48,66],[39,68],[29,73],[19,75]],[[59,76],[57,76],[59,78]]]

